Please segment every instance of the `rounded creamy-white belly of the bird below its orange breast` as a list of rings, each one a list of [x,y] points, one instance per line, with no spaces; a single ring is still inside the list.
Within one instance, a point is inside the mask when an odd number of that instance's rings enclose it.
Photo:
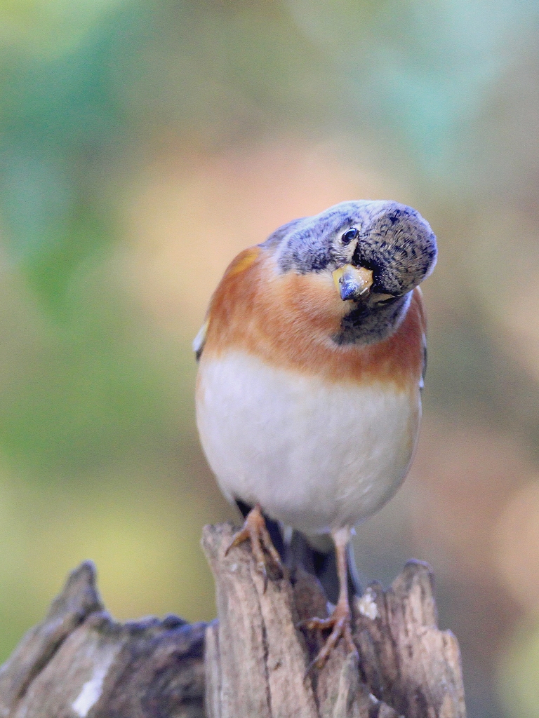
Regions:
[[[371,516],[404,479],[419,388],[331,384],[229,353],[201,363],[197,422],[226,498],[305,533]]]

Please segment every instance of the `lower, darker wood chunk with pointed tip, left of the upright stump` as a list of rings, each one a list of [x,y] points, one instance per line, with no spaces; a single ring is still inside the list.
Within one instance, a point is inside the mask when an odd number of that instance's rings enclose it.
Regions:
[[[95,579],[93,564],[75,569],[0,668],[0,717],[203,716],[206,624],[175,616],[116,623]]]

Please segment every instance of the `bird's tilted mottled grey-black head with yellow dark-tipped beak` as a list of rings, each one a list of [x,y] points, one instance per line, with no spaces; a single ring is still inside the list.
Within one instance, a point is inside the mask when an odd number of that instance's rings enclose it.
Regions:
[[[344,302],[366,309],[418,286],[436,264],[436,237],[421,215],[390,201],[341,202],[285,225],[275,243],[281,271],[331,273]]]

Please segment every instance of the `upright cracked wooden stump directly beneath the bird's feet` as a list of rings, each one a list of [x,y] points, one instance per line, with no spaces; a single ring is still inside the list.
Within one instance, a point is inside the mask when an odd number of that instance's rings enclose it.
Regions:
[[[264,581],[247,545],[224,556],[230,526],[206,526],[218,623],[206,638],[208,718],[465,718],[459,646],[438,630],[430,569],[410,561],[384,592],[354,601],[354,655],[339,644],[322,671],[305,672],[319,645],[295,628],[326,615],[304,572]],[[341,642],[342,643],[342,642]]]

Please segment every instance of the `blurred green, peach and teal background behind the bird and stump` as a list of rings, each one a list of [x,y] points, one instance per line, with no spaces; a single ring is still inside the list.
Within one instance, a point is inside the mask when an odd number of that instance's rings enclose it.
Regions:
[[[119,619],[213,617],[211,291],[287,220],[390,198],[440,247],[425,420],[356,558],[432,564],[471,718],[539,716],[538,26],[527,0],[0,1],[0,660],[86,558]]]

